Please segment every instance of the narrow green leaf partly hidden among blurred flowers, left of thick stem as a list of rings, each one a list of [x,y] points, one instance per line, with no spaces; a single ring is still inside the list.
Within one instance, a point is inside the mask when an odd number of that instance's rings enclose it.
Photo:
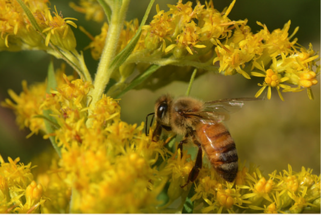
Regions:
[[[57,82],[56,82],[56,77],[54,73],[54,68],[53,68],[53,62],[50,61],[49,67],[48,67],[48,80],[47,80],[47,88],[46,88],[46,93],[50,94],[51,89],[55,89],[57,87]],[[47,134],[52,134],[55,132],[55,129],[57,129],[57,120],[50,116],[51,111],[50,110],[44,110],[43,111],[43,118],[45,118],[45,125],[46,125],[46,132]],[[59,125],[58,125],[59,126]],[[61,148],[58,146],[58,144],[55,141],[55,138],[52,136],[49,136],[49,140],[58,153],[59,157],[61,157]]]

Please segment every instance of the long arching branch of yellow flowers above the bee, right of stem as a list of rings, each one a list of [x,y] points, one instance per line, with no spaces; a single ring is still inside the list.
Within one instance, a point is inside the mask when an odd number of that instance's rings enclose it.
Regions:
[[[268,99],[272,88],[277,90],[282,100],[280,88],[283,92],[307,89],[309,98],[313,99],[311,86],[318,83],[313,67],[319,55],[311,45],[307,50],[297,45],[297,39],[291,41],[298,28],[289,36],[290,21],[283,29],[272,32],[258,22],[263,29],[252,33],[247,20],[229,20],[234,2],[223,12],[217,11],[212,1],[206,5],[197,2],[193,8],[192,2],[183,4],[179,0],[176,5],[168,5],[168,11],[157,6],[157,15],[149,25],[142,27],[140,39],[127,62],[192,65],[225,75],[239,73],[248,79],[257,76],[264,79],[263,84],[258,84],[262,88],[256,97],[268,87]],[[127,32],[129,37],[121,37],[119,47],[127,44],[137,27],[136,21],[126,24],[123,32]],[[102,33],[90,44],[94,59],[101,54],[107,32],[108,24],[104,24]],[[272,73],[274,79],[271,79]]]

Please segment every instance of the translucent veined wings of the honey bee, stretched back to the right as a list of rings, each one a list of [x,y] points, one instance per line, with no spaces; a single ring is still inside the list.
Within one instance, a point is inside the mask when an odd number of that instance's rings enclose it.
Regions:
[[[229,98],[215,101],[206,101],[204,110],[188,112],[188,116],[198,118],[203,123],[215,124],[229,120],[229,114],[240,110],[244,101],[261,100],[259,98]]]

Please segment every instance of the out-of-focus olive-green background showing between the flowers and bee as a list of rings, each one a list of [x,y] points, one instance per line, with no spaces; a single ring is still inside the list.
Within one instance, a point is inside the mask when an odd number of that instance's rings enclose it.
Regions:
[[[85,21],[82,14],[74,12],[66,0],[51,0],[51,6],[57,6],[64,17],[77,18],[76,24],[84,26],[92,35],[100,32],[101,24]],[[167,3],[175,0],[156,0],[160,9],[167,10]],[[186,2],[186,1],[183,1]],[[204,2],[204,1],[201,1]],[[222,10],[231,0],[215,0],[214,7]],[[141,20],[147,0],[132,0],[127,20],[137,17]],[[282,28],[291,20],[290,34],[296,26],[298,43],[308,48],[312,43],[315,50],[321,50],[321,1],[320,0],[237,0],[229,18],[231,20],[248,19],[252,31],[261,29],[256,21],[267,25],[270,31]],[[155,15],[155,5],[150,19]],[[149,19],[149,20],[150,20]],[[74,29],[78,50],[83,50],[89,38],[79,29]],[[92,60],[89,50],[84,51],[85,61],[92,76],[97,61]],[[7,90],[17,94],[22,90],[22,80],[28,84],[44,81],[50,56],[43,51],[0,52],[0,100],[8,97]],[[62,61],[55,60],[59,67]],[[69,72],[72,72],[69,68]],[[186,76],[190,76],[186,72]],[[182,77],[183,78],[183,77]],[[215,100],[232,97],[253,97],[260,87],[256,78],[246,80],[241,75],[221,76],[206,73],[198,77],[192,87],[191,96],[203,100]],[[121,101],[121,118],[129,123],[141,123],[148,113],[153,112],[158,96],[171,93],[174,96],[185,94],[187,83],[173,82],[155,92],[132,90]],[[234,113],[226,122],[234,138],[241,161],[254,163],[265,173],[277,169],[287,169],[291,164],[295,171],[301,166],[321,173],[321,83],[313,87],[315,100],[308,99],[306,91],[283,94],[282,102],[273,91],[271,100],[248,102],[244,108]],[[41,136],[26,139],[27,129],[19,130],[15,115],[9,109],[0,107],[0,154],[3,158],[20,157],[28,163],[33,156],[51,147]]]

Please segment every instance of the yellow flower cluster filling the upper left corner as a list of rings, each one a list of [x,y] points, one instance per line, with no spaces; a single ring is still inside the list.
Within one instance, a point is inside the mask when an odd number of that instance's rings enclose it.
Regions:
[[[18,1],[1,1],[0,50],[41,49],[50,51],[48,47],[49,41],[53,45],[66,50],[73,50],[76,47],[76,39],[69,26],[70,24],[76,27],[76,24],[70,21],[73,18],[63,18],[57,10],[54,12],[54,16],[52,16],[48,7],[48,1],[23,0],[23,2],[35,18],[39,29],[35,29],[31,24]],[[44,37],[46,37],[45,40]]]

